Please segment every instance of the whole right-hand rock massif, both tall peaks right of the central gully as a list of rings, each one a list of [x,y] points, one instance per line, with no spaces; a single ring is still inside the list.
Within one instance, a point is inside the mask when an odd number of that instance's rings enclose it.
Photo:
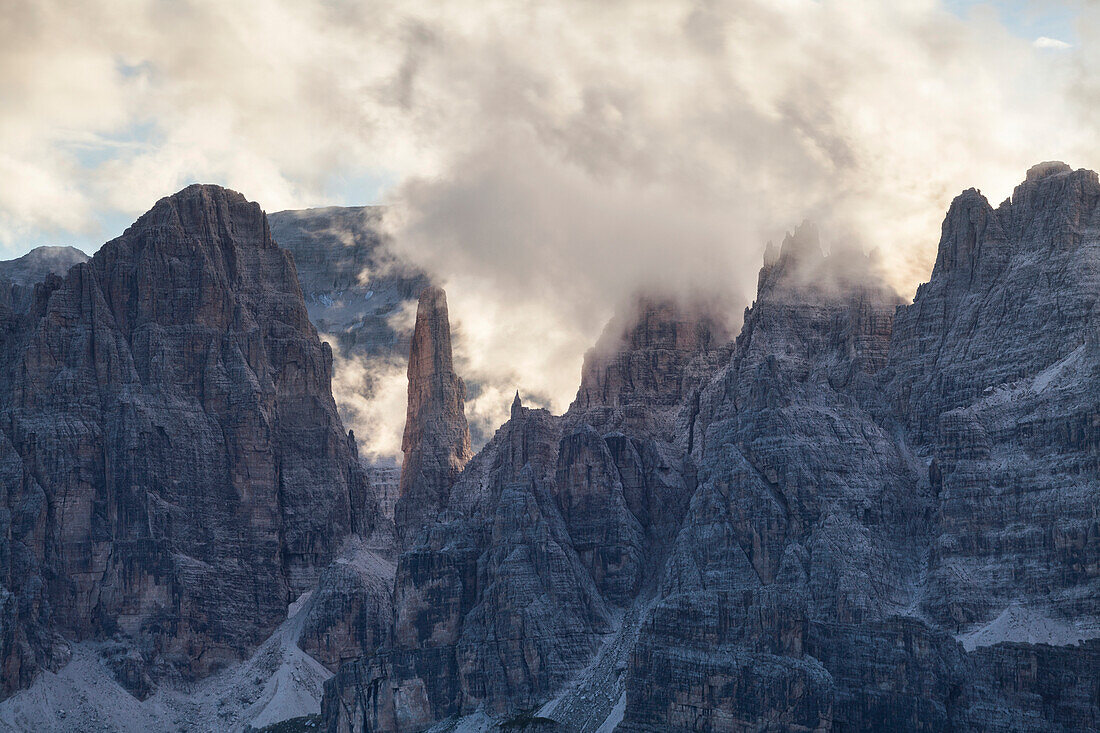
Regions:
[[[963,194],[895,318],[798,234],[766,262],[619,731],[1097,730],[1094,643],[967,653],[1100,627],[1094,189]]]

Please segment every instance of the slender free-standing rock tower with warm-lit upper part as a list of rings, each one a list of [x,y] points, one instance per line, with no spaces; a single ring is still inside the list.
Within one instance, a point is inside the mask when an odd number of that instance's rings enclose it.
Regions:
[[[420,293],[408,375],[405,462],[394,508],[403,540],[415,537],[446,505],[451,485],[472,456],[466,389],[454,373],[447,294],[440,287]]]

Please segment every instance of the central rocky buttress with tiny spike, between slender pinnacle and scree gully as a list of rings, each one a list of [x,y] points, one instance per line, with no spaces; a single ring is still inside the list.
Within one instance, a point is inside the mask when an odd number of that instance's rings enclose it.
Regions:
[[[694,486],[674,429],[690,407],[666,400],[647,413],[646,403],[664,389],[697,392],[718,353],[712,320],[650,304],[608,330],[606,369],[585,368],[585,380],[619,387],[586,382],[562,417],[517,395],[446,511],[400,556],[392,644],[327,686],[330,730],[419,731],[477,709],[526,710],[614,637],[616,653],[594,668],[607,690],[596,700],[578,687],[551,715],[598,726]]]

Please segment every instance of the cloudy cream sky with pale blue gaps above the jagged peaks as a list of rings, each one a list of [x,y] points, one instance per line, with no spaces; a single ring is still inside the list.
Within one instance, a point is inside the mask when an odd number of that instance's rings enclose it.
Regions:
[[[911,297],[957,193],[1100,167],[1098,37],[1090,0],[7,0],[0,259],[194,182],[386,204],[486,400],[560,412],[639,291],[737,314],[809,218]]]

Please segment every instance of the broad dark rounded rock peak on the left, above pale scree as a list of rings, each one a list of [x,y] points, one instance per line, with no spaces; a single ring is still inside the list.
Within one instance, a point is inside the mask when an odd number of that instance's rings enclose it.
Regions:
[[[0,338],[6,692],[56,664],[44,630],[206,674],[378,528],[294,263],[240,194],[162,199]]]

